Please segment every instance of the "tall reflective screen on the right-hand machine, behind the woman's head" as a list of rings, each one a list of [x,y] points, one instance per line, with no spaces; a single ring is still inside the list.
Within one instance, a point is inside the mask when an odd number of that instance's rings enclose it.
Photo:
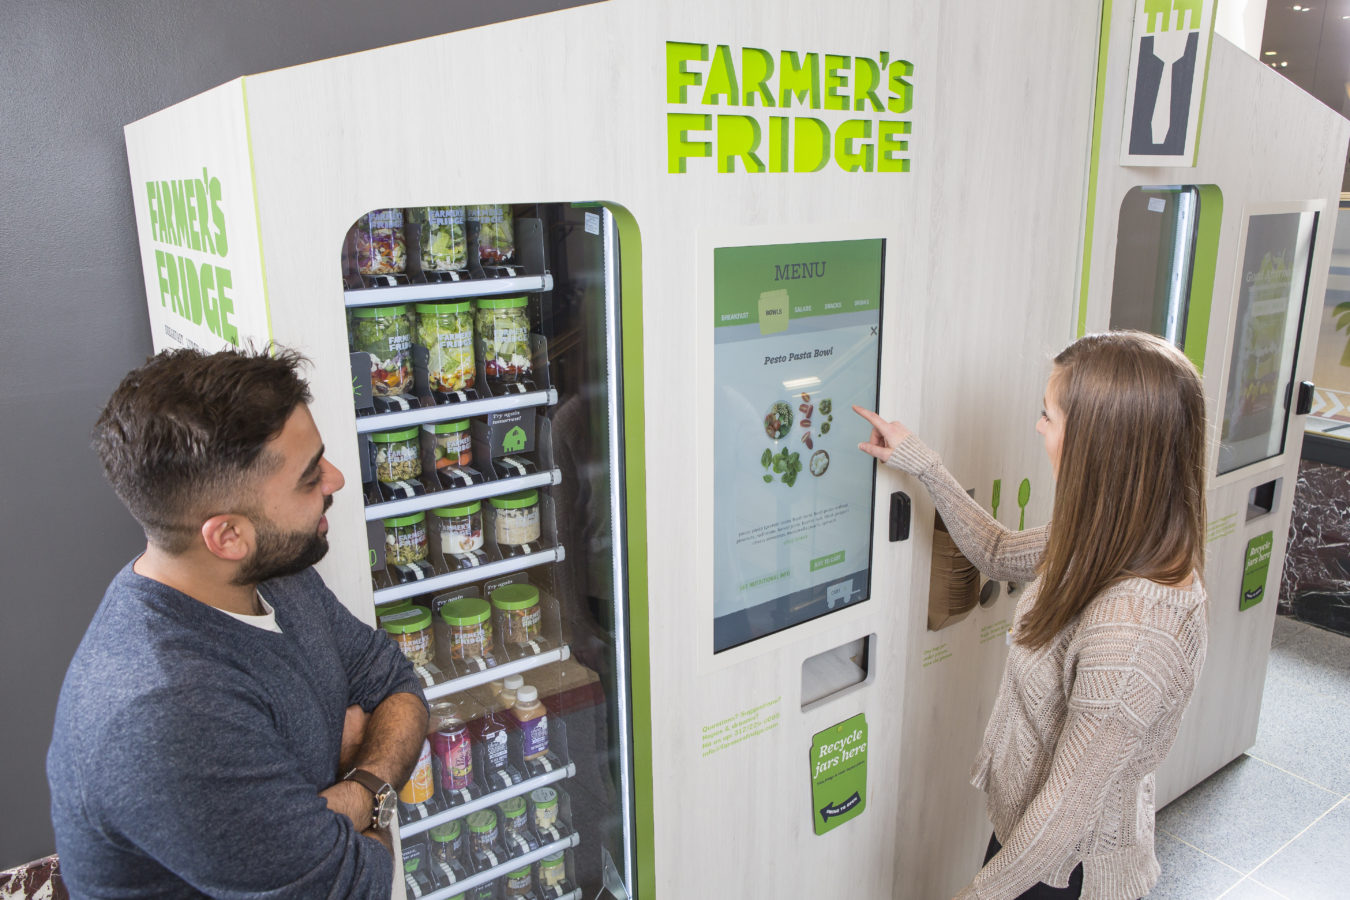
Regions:
[[[1284,451],[1316,224],[1311,210],[1247,219],[1219,436],[1220,475]]]

